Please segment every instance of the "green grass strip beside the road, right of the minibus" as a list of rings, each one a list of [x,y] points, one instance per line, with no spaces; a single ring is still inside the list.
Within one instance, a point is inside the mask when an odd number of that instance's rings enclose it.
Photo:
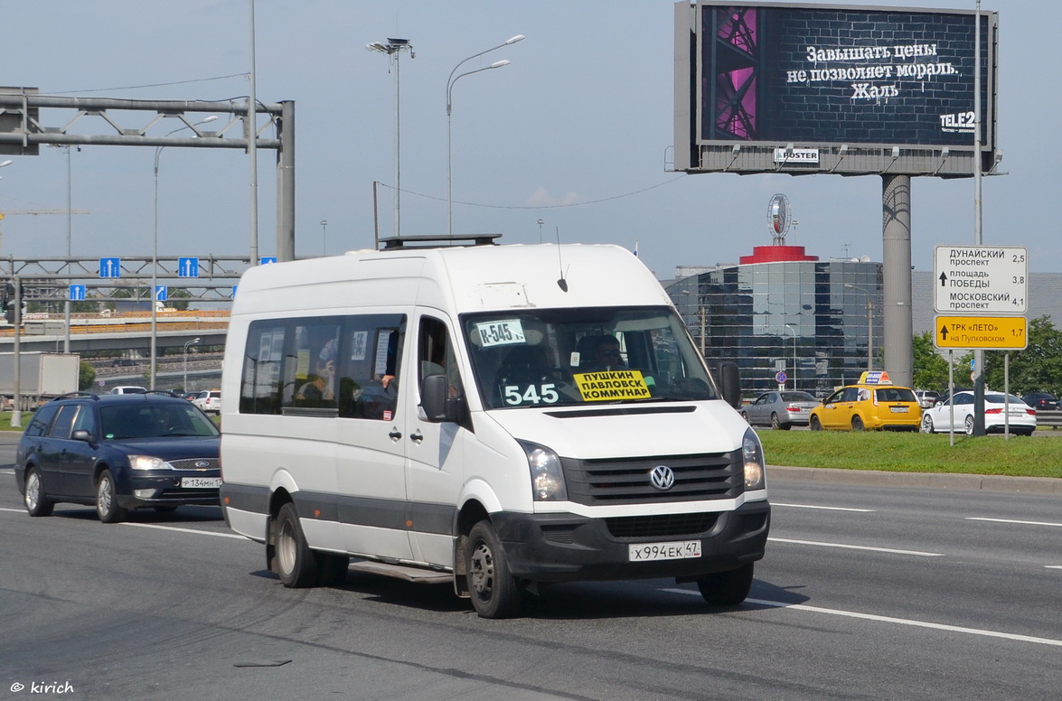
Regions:
[[[758,431],[767,462],[796,467],[1062,478],[1062,439],[885,431]]]

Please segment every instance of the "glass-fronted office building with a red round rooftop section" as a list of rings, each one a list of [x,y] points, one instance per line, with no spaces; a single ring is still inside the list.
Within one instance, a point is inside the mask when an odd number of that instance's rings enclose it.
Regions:
[[[884,370],[879,262],[756,246],[740,264],[679,275],[667,291],[693,341],[709,360],[736,362],[746,392],[777,389],[782,372],[788,389],[822,395],[858,380],[869,359]]]

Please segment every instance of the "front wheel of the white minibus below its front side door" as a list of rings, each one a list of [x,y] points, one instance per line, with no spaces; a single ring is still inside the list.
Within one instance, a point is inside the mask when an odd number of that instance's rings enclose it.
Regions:
[[[501,541],[489,520],[472,527],[465,546],[468,594],[480,618],[511,618],[520,612],[524,592],[509,571]]]

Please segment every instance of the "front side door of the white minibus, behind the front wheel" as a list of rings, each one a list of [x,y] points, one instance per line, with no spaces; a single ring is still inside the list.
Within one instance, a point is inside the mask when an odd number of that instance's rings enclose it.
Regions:
[[[411,404],[419,405],[425,379],[445,378],[449,407],[461,405],[464,384],[458,367],[453,335],[444,321],[423,314],[417,322],[416,390]],[[414,557],[422,562],[450,566],[455,502],[463,479],[465,429],[456,421],[429,418],[421,406],[406,413],[406,494],[412,522]],[[452,412],[452,410],[451,410]]]

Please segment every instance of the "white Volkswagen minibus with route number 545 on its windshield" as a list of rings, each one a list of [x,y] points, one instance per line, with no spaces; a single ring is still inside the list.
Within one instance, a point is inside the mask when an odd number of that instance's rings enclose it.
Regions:
[[[230,528],[286,586],[349,567],[452,582],[485,618],[573,580],[743,601],[770,505],[737,366],[709,372],[627,250],[493,239],[243,275],[221,387]]]

